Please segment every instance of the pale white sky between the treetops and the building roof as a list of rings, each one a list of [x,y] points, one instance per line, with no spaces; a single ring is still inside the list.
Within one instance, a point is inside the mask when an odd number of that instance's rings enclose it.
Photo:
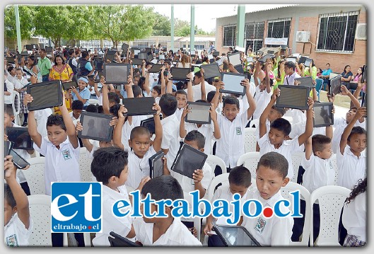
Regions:
[[[260,11],[267,8],[276,8],[289,4],[245,4],[245,12]],[[171,4],[145,4],[153,6],[154,11],[171,17]],[[195,25],[198,28],[211,32],[216,29],[216,18],[238,14],[238,4],[195,4]],[[191,20],[190,4],[174,4],[174,18],[182,21]]]

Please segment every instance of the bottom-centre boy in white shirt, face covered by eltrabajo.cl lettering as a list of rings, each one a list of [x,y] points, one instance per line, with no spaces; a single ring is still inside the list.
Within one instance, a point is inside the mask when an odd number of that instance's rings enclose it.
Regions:
[[[171,175],[161,175],[149,180],[141,189],[143,198],[147,194],[152,200],[172,201],[183,199],[183,190],[178,181]],[[151,209],[158,210],[156,204]],[[173,207],[165,207],[166,218],[139,218],[134,220],[134,229],[138,242],[143,246],[201,246],[201,243],[182,224],[180,218],[171,214]],[[141,206],[143,212],[143,206]]]

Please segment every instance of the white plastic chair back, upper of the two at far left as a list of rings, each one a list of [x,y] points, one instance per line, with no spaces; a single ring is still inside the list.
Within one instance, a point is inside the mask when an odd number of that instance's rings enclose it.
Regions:
[[[22,171],[30,187],[31,195],[45,194],[45,157],[29,158],[30,168]]]

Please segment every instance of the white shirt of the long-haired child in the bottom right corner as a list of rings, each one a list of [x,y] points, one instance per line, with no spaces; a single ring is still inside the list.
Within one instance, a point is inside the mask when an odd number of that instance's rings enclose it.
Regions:
[[[342,220],[349,235],[366,242],[366,192],[358,194],[349,204],[344,204]]]

